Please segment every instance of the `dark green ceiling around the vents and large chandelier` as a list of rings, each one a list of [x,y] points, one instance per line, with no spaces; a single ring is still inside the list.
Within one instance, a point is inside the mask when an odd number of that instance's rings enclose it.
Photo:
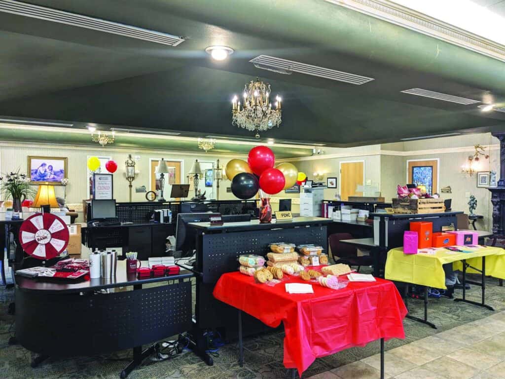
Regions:
[[[231,125],[230,100],[259,76],[283,98],[282,124],[261,133],[276,141],[347,147],[505,128],[505,113],[483,113],[481,103],[400,92],[420,87],[505,103],[505,63],[330,2],[31,3],[186,40],[172,47],[0,12],[2,118],[254,139]],[[225,62],[212,61],[205,48],[215,44],[235,53]],[[352,85],[282,75],[248,62],[262,54],[375,80]]]

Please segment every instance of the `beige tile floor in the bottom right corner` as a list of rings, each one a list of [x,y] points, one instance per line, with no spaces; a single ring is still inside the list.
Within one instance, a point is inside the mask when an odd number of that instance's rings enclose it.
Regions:
[[[379,379],[380,355],[308,379]],[[504,379],[505,311],[442,331],[385,354],[389,379]]]

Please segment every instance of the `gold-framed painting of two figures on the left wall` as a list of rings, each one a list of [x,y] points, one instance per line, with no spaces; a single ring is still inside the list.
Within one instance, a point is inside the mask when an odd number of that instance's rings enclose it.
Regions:
[[[35,157],[28,156],[28,168],[30,182],[43,184],[45,182],[54,185],[61,184],[67,177],[67,157]]]

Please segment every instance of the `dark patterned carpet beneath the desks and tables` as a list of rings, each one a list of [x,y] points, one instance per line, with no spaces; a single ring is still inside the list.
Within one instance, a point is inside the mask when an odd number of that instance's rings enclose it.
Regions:
[[[505,288],[498,287],[498,281],[489,278],[486,288],[486,302],[496,310],[505,310]],[[456,292],[459,297],[461,291]],[[119,372],[131,357],[130,351],[119,352],[112,356],[76,357],[59,360],[52,358],[37,368],[30,367],[31,353],[21,346],[9,346],[8,339],[13,335],[14,318],[7,314],[7,306],[14,298],[13,290],[0,289],[0,378],[8,379],[108,379],[119,377]],[[480,288],[472,287],[468,292],[471,300],[480,300]],[[412,314],[422,317],[421,300],[410,300]],[[407,338],[404,341],[386,342],[386,349],[410,343],[434,335],[440,331],[491,315],[493,312],[481,307],[464,303],[455,303],[446,298],[430,299],[429,319],[439,326],[434,330],[424,324],[406,319],[404,321]],[[76,325],[76,327],[79,327]],[[273,379],[287,377],[282,364],[282,332],[271,333],[244,341],[245,364],[237,364],[237,345],[222,347],[214,357],[214,366],[207,366],[191,352],[162,362],[146,359],[143,365],[134,370],[130,379],[150,378],[254,378]],[[352,348],[337,354],[317,359],[304,373],[303,377],[327,371],[329,369],[363,359],[379,352],[378,342],[370,343],[363,348]]]

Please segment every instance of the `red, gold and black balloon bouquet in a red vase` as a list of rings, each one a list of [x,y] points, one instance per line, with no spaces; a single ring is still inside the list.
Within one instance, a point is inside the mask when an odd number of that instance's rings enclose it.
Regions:
[[[249,151],[247,162],[232,159],[225,168],[226,176],[231,180],[231,192],[237,198],[250,199],[260,191],[262,223],[272,220],[269,195],[292,187],[298,179],[298,170],[291,163],[281,163],[275,168],[274,164],[273,151],[266,146],[257,146]]]

